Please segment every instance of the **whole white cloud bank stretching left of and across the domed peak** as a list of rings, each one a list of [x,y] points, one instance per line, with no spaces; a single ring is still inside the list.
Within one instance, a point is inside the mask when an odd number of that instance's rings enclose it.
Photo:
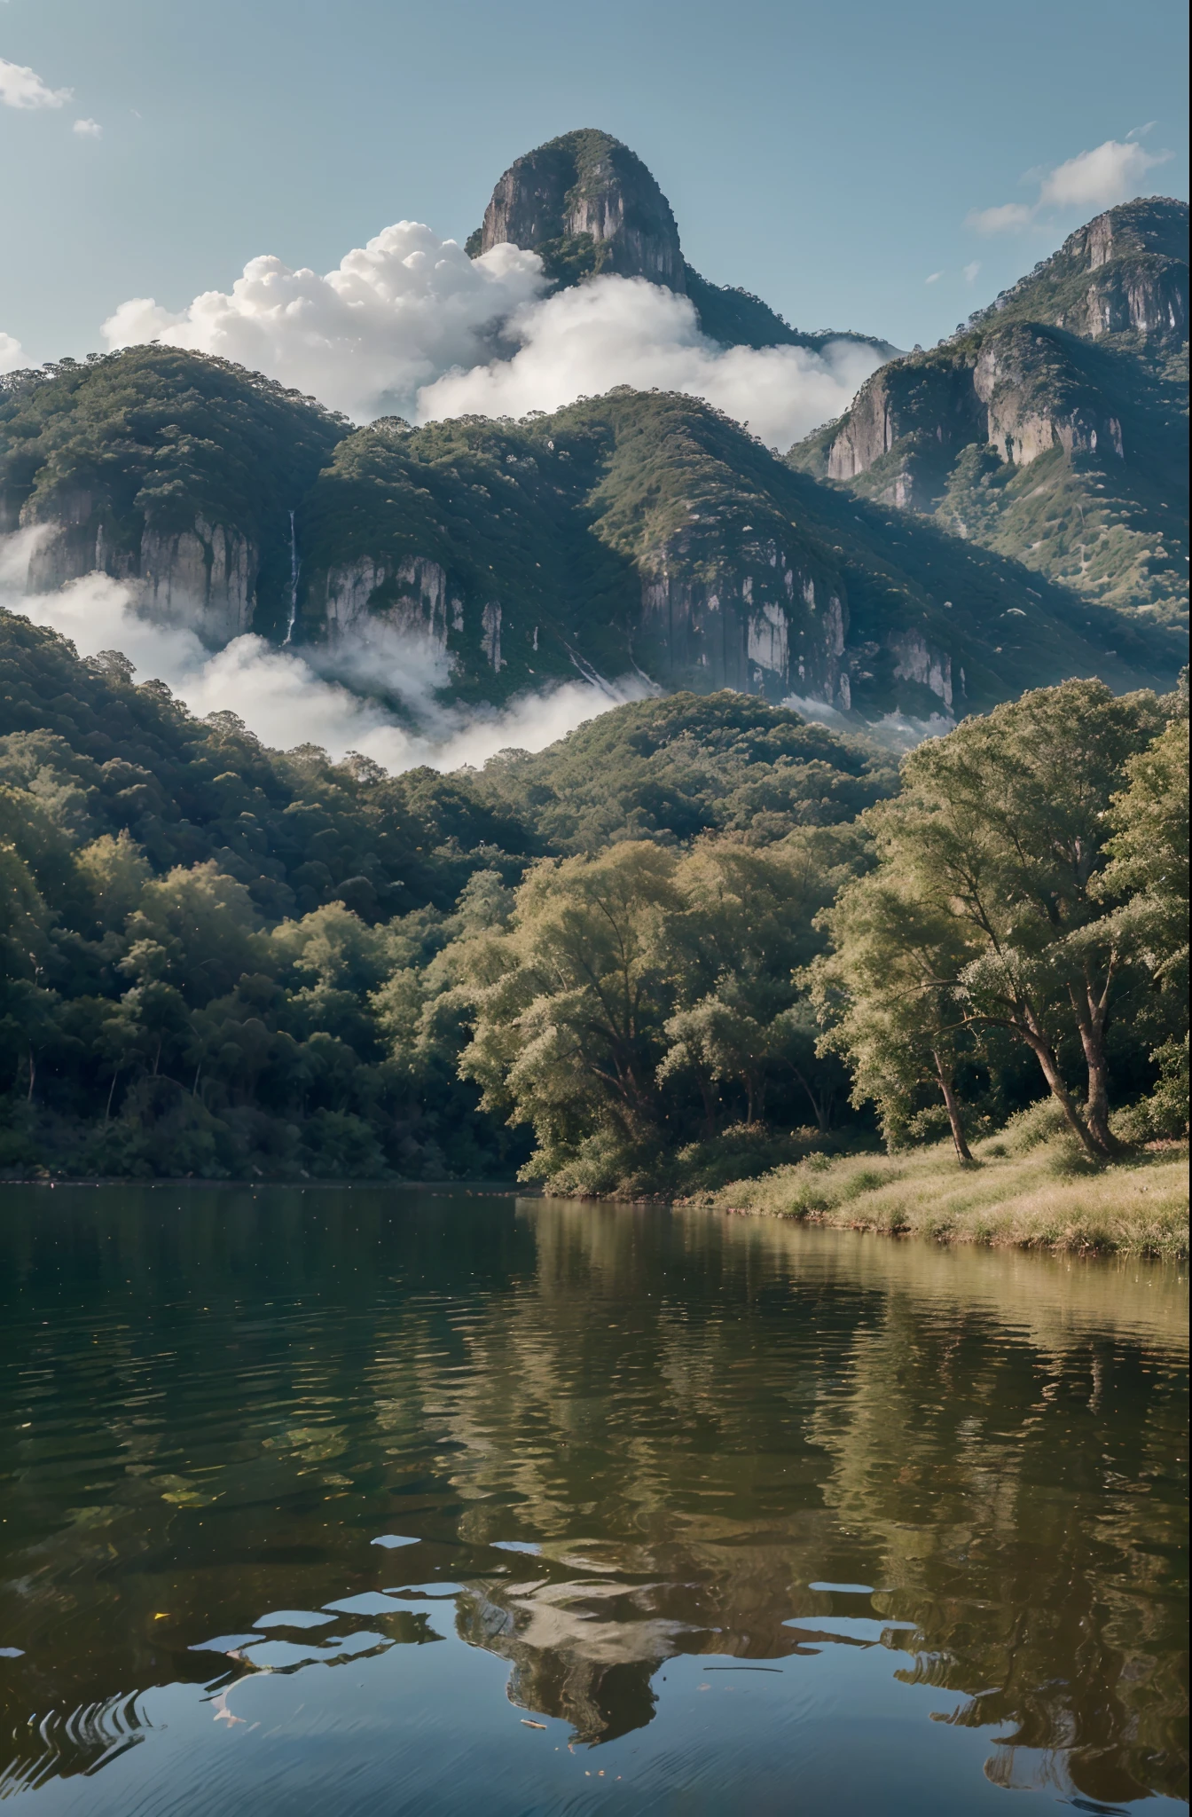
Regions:
[[[723,349],[683,296],[643,278],[596,278],[541,296],[536,253],[471,260],[416,222],[385,227],[318,276],[254,258],[231,294],[205,291],[171,313],[131,298],[104,323],[109,347],[162,340],[222,354],[313,392],[356,420],[420,422],[465,411],[520,416],[611,385],[709,398],[787,445],[838,416],[881,365],[852,342]]]

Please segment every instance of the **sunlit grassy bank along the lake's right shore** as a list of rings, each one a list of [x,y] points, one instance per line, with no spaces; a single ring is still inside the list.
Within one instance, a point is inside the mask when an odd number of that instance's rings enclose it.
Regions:
[[[1063,1136],[1008,1130],[978,1143],[974,1154],[974,1167],[959,1167],[950,1143],[894,1156],[809,1156],[798,1167],[723,1187],[705,1203],[941,1243],[1168,1261],[1188,1254],[1187,1145],[1090,1170]]]

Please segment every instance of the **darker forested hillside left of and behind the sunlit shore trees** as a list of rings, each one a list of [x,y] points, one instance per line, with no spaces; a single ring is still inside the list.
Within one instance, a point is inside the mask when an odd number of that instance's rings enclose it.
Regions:
[[[456,1076],[440,996],[527,867],[629,834],[778,845],[892,787],[740,694],[389,776],[196,721],[0,612],[0,1177],[509,1176],[529,1145]]]

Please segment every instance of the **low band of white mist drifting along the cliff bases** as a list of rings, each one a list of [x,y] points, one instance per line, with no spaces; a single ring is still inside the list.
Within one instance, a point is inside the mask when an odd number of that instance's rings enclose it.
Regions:
[[[160,678],[202,716],[240,714],[267,745],[322,745],[333,758],[362,750],[387,770],[429,763],[440,770],[482,765],[498,750],[541,750],[583,720],[649,692],[636,676],[616,683],[565,681],[507,707],[442,707],[434,689],[447,680],[425,643],[376,627],[369,643],[338,650],[289,650],[265,638],[234,638],[211,652],[180,623],[160,623],[138,609],[131,587],[85,574],[58,592],[24,594],[24,578],[44,529],[0,538],[0,605],[71,638],[80,656],[122,650],[138,680]],[[403,700],[412,725],[362,700],[345,681],[385,683]]]

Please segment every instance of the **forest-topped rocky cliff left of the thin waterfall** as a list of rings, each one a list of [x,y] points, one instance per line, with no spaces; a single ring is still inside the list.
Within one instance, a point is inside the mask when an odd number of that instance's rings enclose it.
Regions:
[[[0,382],[0,527],[33,531],[25,583],[100,572],[218,647],[285,636],[293,514],[347,423],[176,347]]]

